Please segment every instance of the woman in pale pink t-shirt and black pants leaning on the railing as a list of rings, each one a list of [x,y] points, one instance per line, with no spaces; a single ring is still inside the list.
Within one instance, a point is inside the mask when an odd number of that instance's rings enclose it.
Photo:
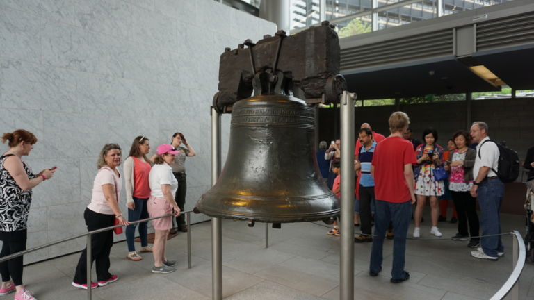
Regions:
[[[118,144],[105,144],[98,157],[98,172],[92,185],[91,202],[83,213],[88,231],[113,226],[114,224],[129,225],[119,208],[122,179],[118,166],[121,151]],[[122,228],[120,228],[122,229]],[[122,232],[122,231],[120,231]],[[115,233],[118,233],[115,231]],[[104,231],[91,236],[91,260],[96,261],[97,283],[90,288],[97,288],[118,280],[117,275],[109,272],[109,253],[113,246],[113,231]],[[81,252],[78,266],[74,273],[72,285],[87,289],[87,248]]]

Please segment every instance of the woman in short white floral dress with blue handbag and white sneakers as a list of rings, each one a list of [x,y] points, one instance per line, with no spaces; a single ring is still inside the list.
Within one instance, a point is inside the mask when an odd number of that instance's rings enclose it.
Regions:
[[[432,228],[430,234],[437,237],[442,236],[437,228],[437,219],[439,217],[439,206],[437,197],[444,194],[445,186],[443,178],[436,178],[437,174],[444,176],[445,170],[442,167],[443,147],[436,144],[437,131],[434,128],[426,128],[423,131],[424,144],[420,144],[415,153],[417,165],[414,171],[415,194],[417,205],[414,213],[414,238],[421,238],[421,216],[425,207],[426,198],[430,198],[430,213],[432,219]]]

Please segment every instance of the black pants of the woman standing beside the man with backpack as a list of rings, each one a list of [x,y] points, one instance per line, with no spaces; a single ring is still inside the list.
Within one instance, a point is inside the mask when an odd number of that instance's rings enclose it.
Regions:
[[[478,236],[478,215],[476,214],[476,199],[469,192],[454,192],[454,206],[458,213],[458,233],[461,235]],[[469,231],[467,230],[469,224]]]

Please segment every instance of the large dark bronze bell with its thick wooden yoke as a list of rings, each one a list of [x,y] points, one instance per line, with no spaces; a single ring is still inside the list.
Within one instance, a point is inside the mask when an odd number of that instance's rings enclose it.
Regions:
[[[310,37],[315,48],[297,52]],[[330,98],[336,99],[340,77],[330,71],[339,69],[337,34],[326,24],[290,37],[279,31],[258,44],[245,44],[249,49],[240,45],[221,55],[213,108],[231,106],[229,149],[218,181],[196,209],[211,217],[268,223],[339,215],[339,199],[323,183],[317,165],[315,110],[291,92],[298,79],[302,90],[330,87]]]

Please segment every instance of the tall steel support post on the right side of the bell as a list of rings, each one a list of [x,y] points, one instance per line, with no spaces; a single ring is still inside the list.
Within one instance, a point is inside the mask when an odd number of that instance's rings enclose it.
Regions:
[[[341,282],[339,299],[354,299],[354,97],[341,95]]]

